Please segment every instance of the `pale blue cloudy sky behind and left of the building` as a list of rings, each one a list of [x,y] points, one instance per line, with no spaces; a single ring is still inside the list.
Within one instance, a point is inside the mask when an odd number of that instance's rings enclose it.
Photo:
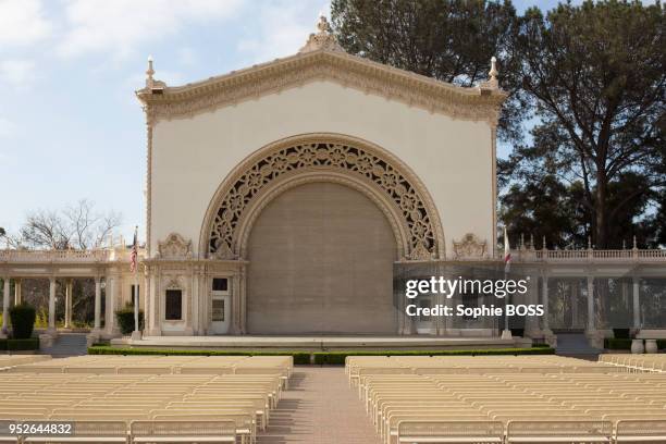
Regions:
[[[556,0],[515,0],[519,11]],[[297,52],[326,0],[0,0],[0,226],[81,199],[145,226],[152,55],[178,85]],[[143,233],[144,230],[139,230]]]

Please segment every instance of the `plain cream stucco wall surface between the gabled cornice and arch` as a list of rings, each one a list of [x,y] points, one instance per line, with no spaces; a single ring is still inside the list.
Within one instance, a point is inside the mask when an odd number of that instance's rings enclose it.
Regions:
[[[485,122],[456,121],[331,82],[260,97],[153,128],[151,252],[172,232],[198,248],[206,210],[229,172],[261,147],[306,133],[366,139],[402,159],[430,192],[446,254],[473,233],[493,238],[492,140]]]

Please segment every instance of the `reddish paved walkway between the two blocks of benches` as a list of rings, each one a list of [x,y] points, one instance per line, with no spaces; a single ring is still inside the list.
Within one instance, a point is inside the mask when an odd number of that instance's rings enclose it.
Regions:
[[[258,444],[380,444],[342,367],[297,367]]]

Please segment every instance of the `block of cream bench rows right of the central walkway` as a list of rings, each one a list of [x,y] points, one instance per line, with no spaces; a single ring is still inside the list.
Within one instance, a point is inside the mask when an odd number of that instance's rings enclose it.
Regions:
[[[350,383],[384,443],[666,443],[666,374],[614,366],[601,372],[594,362],[559,357],[483,358],[469,373],[419,372],[476,358],[397,358],[347,360]],[[387,360],[412,371],[391,372]]]

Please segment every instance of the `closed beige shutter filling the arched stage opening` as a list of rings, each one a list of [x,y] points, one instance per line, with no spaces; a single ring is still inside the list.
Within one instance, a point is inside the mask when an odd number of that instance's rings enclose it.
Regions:
[[[333,183],[292,188],[257,218],[248,242],[248,331],[392,333],[396,243],[384,213]]]

